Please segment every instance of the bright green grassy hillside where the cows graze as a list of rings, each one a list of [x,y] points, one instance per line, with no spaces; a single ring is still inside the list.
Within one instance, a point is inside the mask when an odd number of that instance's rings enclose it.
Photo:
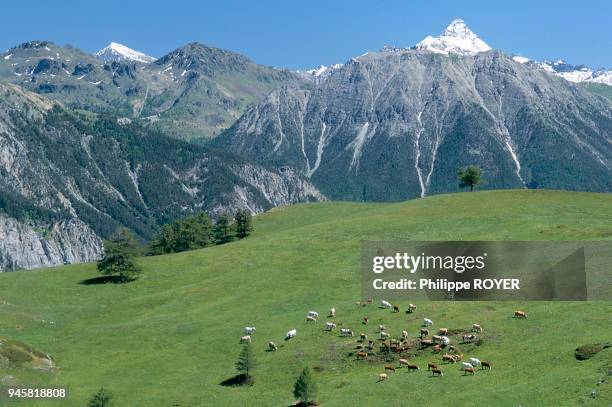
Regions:
[[[81,284],[97,276],[89,264],[0,274],[0,336],[49,353],[58,366],[46,373],[0,363],[0,379],[68,386],[68,406],[83,406],[101,386],[119,406],[287,406],[308,365],[323,405],[612,403],[612,349],[586,361],[573,355],[580,345],[610,341],[611,302],[429,302],[410,315],[355,304],[360,240],[612,240],[612,195],[491,191],[397,204],[308,204],[259,216],[255,228],[240,242],[144,258],[142,277],[126,285]],[[393,335],[407,329],[414,339],[423,317],[434,328],[481,323],[483,343],[460,346],[493,369],[470,377],[444,365],[445,376],[431,378],[427,362],[440,357],[416,352],[420,372],[401,369],[376,383],[382,361],[356,361],[349,356],[355,338],[323,332],[331,306],[336,322],[371,337],[384,323]],[[516,308],[529,319],[512,318]],[[323,317],[316,324],[305,322],[311,309]],[[360,323],[365,315],[367,326]],[[255,384],[221,386],[235,374],[247,325],[257,327]],[[283,341],[292,328],[298,336]],[[270,340],[277,352],[265,351]]]

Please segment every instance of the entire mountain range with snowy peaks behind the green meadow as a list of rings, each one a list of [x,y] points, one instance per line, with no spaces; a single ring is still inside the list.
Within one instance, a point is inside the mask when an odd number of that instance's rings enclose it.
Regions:
[[[119,226],[148,240],[198,211],[453,192],[470,164],[486,188],[612,191],[609,77],[462,20],[308,71],[199,43],[26,42],[0,55],[0,271],[90,261]]]

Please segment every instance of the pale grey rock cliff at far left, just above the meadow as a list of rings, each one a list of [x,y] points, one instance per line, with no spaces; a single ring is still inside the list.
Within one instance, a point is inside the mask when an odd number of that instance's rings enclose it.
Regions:
[[[94,261],[101,252],[100,238],[78,219],[41,226],[0,213],[0,272]]]

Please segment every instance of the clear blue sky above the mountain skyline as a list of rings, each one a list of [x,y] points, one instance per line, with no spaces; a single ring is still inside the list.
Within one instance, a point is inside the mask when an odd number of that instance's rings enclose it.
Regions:
[[[191,41],[267,65],[344,62],[385,44],[412,46],[463,18],[493,48],[612,67],[612,1],[11,1],[0,49],[33,39],[93,52],[110,41],[153,56]]]

